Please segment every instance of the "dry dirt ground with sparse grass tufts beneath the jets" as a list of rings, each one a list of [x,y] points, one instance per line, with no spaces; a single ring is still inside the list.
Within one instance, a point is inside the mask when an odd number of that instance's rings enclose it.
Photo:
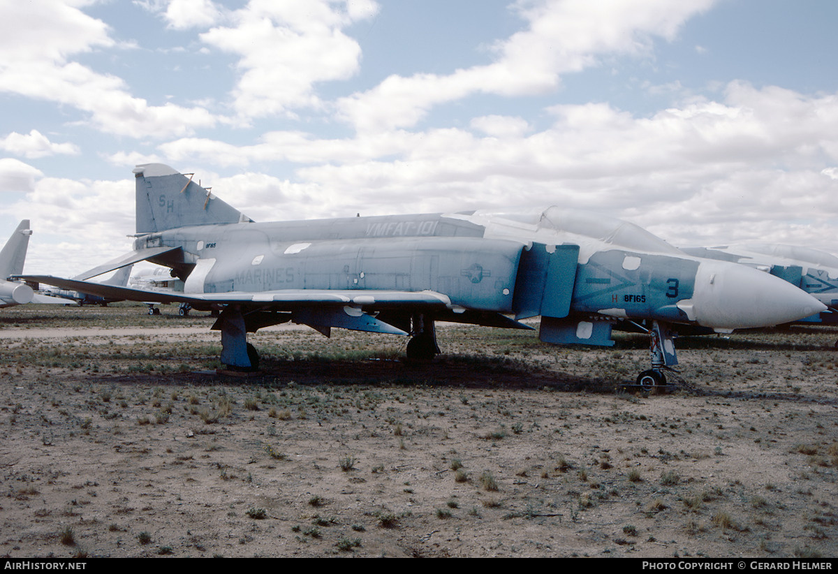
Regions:
[[[240,377],[171,313],[0,312],[0,554],[838,556],[836,331],[680,339],[649,396],[634,334],[273,328]]]

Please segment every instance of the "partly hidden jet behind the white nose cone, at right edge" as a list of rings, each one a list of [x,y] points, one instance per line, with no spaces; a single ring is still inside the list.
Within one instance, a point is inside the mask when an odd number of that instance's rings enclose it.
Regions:
[[[838,324],[838,257],[831,253],[781,243],[687,247],[683,251],[694,256],[733,261],[784,279],[827,307],[824,312],[798,323]]]

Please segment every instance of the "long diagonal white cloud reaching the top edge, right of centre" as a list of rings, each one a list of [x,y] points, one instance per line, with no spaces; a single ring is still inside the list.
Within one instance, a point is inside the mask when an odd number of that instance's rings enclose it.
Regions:
[[[685,20],[715,1],[521,1],[518,12],[528,28],[494,46],[494,63],[450,75],[391,75],[372,90],[339,100],[340,116],[360,131],[411,127],[433,106],[473,94],[555,90],[561,75],[596,65],[604,54],[640,54],[653,36],[673,39]]]

